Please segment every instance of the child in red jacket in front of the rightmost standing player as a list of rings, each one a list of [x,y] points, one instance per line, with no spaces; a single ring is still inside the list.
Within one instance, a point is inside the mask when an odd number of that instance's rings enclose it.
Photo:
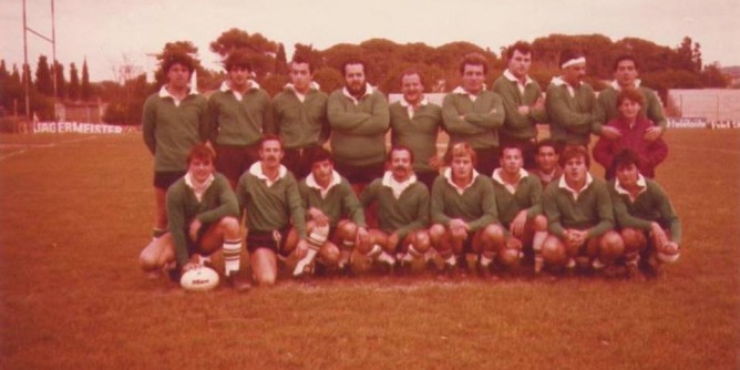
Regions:
[[[637,167],[645,177],[655,177],[655,167],[668,156],[668,146],[658,137],[647,141],[646,133],[654,127],[652,123],[639,112],[645,104],[643,94],[635,89],[625,89],[617,94],[619,116],[609,121],[606,127],[618,133],[618,138],[600,137],[594,146],[594,160],[606,169],[606,178],[615,175],[614,157],[626,148],[638,155]]]

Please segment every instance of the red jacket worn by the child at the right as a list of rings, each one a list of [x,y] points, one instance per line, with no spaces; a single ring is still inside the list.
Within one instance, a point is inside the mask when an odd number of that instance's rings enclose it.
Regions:
[[[618,129],[621,132],[621,137],[617,140],[600,137],[596,142],[596,146],[594,146],[594,160],[606,169],[606,178],[614,178],[615,168],[613,168],[611,162],[614,162],[614,157],[617,154],[626,148],[637,152],[639,156],[637,168],[640,171],[640,174],[649,178],[655,177],[655,167],[668,156],[668,146],[662,138],[654,142],[643,138],[645,132],[654,126],[652,122],[646,117],[638,116],[635,125],[630,127],[626,120],[617,117],[609,121],[607,126]]]

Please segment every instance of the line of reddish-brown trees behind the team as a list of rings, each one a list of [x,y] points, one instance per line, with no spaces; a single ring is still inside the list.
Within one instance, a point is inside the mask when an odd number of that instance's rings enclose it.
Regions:
[[[559,74],[557,60],[565,48],[578,48],[587,58],[588,78],[595,90],[604,89],[613,75],[613,62],[620,54],[633,54],[640,64],[640,79],[644,84],[655,89],[666,99],[669,89],[727,88],[728,76],[723,75],[718,64],[706,65],[701,55],[701,45],[685,37],[680,44],[670,48],[654,42],[625,38],[611,41],[602,34],[565,35],[549,34],[532,42],[533,64],[531,75],[541,85]],[[288,60],[282,43],[269,40],[260,33],[249,33],[240,29],[229,29],[210,42],[209,51],[226,58],[235,50],[244,51],[253,66],[255,80],[270,95],[277,94],[289,82]],[[425,43],[399,44],[387,39],[370,39],[359,44],[339,43],[325,50],[317,50],[312,44],[296,43],[295,55],[309,60],[315,65],[315,81],[327,93],[343,85],[340,72],[342,63],[350,58],[367,61],[368,82],[384,93],[400,92],[399,79],[403,70],[417,68],[424,75],[428,92],[449,92],[460,84],[459,63],[466,53],[477,52],[489,60],[489,86],[506,69],[504,48],[496,51],[483,49],[476,44],[458,41],[438,48]],[[191,41],[168,42],[156,58],[162,61],[173,52],[198,54]],[[52,73],[53,71],[56,73]],[[201,92],[218,89],[225,79],[225,71],[214,71],[196,65],[197,85]],[[53,82],[56,76],[58,97],[65,102],[89,102],[100,99],[109,106],[103,121],[115,124],[138,124],[142,106],[146,96],[161,86],[166,76],[162,71],[155,73],[155,81],[150,82],[146,74],[127,61],[115,71],[117,81],[91,83],[86,61],[82,64],[82,76],[76,65],[70,64],[69,74],[64,66],[47,56],[39,56],[34,79],[32,80],[31,111],[40,119],[53,117]],[[0,62],[0,89],[4,114],[17,112],[24,114],[24,79],[30,78],[27,68],[19,73],[17,65],[12,72]],[[69,75],[69,79],[66,78]]]

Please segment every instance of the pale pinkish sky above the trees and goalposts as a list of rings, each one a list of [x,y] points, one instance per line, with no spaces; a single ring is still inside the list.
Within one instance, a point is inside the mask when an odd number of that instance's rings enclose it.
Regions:
[[[22,0],[0,1],[0,58],[23,61]],[[28,27],[51,35],[49,0],[27,0]],[[384,38],[432,47],[469,41],[497,51],[516,40],[551,33],[637,37],[677,47],[685,35],[701,44],[705,62],[740,65],[737,0],[58,0],[56,59],[78,66],[88,59],[91,80],[110,80],[129,61],[142,71],[169,41],[189,40],[207,68],[218,68],[208,43],[230,29],[326,49]],[[29,63],[51,56],[51,44],[28,34]]]

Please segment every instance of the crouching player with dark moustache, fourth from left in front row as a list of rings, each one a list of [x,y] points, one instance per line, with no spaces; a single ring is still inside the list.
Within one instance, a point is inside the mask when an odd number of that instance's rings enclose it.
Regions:
[[[401,265],[422,258],[430,248],[429,189],[413,172],[413,153],[395,145],[388,153],[382,178],[376,178],[361,194],[362,205],[378,204],[379,229],[370,230],[358,251],[392,269],[397,253]]]

